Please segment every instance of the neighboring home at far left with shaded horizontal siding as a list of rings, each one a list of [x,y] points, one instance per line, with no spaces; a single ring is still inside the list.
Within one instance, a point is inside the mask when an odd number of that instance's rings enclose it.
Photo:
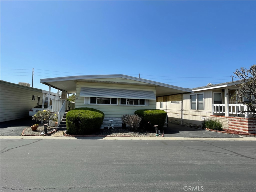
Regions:
[[[42,89],[0,80],[0,122],[27,117],[31,108],[44,101],[47,104],[48,93]],[[51,100],[57,98],[57,94],[50,93]]]

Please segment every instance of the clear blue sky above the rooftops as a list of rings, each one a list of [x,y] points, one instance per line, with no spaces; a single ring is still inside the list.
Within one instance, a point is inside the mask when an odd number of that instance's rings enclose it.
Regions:
[[[256,62],[256,1],[1,1],[1,80],[126,74],[184,88]],[[15,70],[14,70],[15,69]]]

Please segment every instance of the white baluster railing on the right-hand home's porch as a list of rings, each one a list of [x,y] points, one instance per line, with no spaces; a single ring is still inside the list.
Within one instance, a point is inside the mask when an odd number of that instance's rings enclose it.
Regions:
[[[238,103],[238,104],[227,104],[228,105],[228,113],[229,114],[237,114],[240,115],[242,114],[241,112],[238,111],[246,111],[247,110],[247,106],[242,104],[242,103]],[[212,113],[224,113],[225,114],[225,104],[213,104],[212,105]],[[248,114],[253,114],[251,112],[247,112],[244,113],[245,117],[248,118]]]

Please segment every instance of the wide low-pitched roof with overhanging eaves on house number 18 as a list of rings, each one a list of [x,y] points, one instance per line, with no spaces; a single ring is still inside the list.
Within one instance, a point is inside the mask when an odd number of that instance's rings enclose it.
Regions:
[[[111,81],[109,80],[111,79]],[[129,81],[133,80],[133,81]],[[136,82],[134,82],[136,81]],[[61,91],[68,93],[76,92],[77,82],[98,82],[98,83],[112,83],[112,84],[126,84],[126,85],[142,85],[142,86],[155,86],[156,97],[180,93],[193,93],[192,90],[177,87],[165,83],[151,81],[147,79],[131,77],[123,74],[112,75],[87,75],[87,76],[69,76],[69,77],[56,77],[40,79],[40,83],[51,86]]]

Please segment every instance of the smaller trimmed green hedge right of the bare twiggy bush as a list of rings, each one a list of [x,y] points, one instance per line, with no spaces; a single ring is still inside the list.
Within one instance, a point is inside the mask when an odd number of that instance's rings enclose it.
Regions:
[[[142,117],[140,125],[147,129],[152,129],[154,125],[158,125],[158,129],[163,128],[167,116],[165,111],[159,109],[141,109],[134,114]]]

